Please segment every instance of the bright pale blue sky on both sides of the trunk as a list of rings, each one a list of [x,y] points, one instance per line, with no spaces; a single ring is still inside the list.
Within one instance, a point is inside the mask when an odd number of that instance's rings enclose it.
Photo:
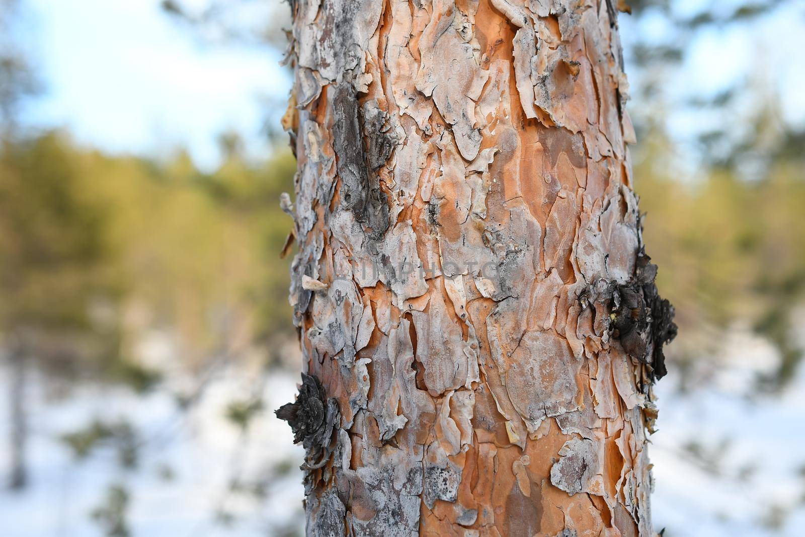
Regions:
[[[184,0],[203,6],[208,0]],[[729,12],[734,2],[718,4]],[[279,6],[279,0],[265,0]],[[691,14],[704,0],[682,0]],[[270,48],[205,46],[167,17],[159,0],[25,0],[26,39],[46,93],[23,116],[29,126],[64,127],[79,143],[105,151],[167,155],[188,147],[205,168],[217,165],[217,134],[236,130],[251,155],[266,153],[262,133],[266,100],[281,104],[289,76],[281,54]],[[259,3],[259,2],[257,2]],[[282,9],[287,9],[283,4]],[[276,9],[276,8],[275,8]],[[644,17],[643,35],[662,38],[662,16]],[[752,23],[713,27],[694,41],[683,68],[668,81],[677,95],[719,93],[759,72],[780,90],[781,109],[805,124],[805,10],[786,9]],[[625,43],[634,19],[621,17]],[[630,76],[636,75],[629,69]],[[633,101],[630,106],[639,106]],[[738,101],[735,114],[745,114]],[[730,111],[732,112],[732,111]],[[737,116],[740,117],[740,116]],[[689,137],[703,123],[700,110],[675,110],[671,133]]]

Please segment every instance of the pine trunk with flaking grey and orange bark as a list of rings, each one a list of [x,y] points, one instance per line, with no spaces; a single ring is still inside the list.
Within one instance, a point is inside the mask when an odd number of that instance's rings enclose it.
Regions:
[[[673,308],[609,0],[297,0],[308,535],[651,535]]]

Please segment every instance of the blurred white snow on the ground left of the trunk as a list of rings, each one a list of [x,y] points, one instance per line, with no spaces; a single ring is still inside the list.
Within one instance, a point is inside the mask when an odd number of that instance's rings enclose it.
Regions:
[[[7,384],[3,373],[0,390]],[[263,390],[266,410],[293,399],[295,379],[287,373],[268,378]],[[252,421],[245,439],[225,419],[229,402],[247,397],[253,385],[242,372],[226,370],[186,415],[164,393],[141,397],[130,390],[96,386],[48,403],[42,390],[31,390],[30,485],[22,493],[0,493],[0,535],[101,535],[90,513],[102,502],[107,486],[118,482],[130,490],[128,521],[134,537],[247,537],[274,535],[277,528],[289,525],[300,527],[303,487],[298,466],[303,451],[292,444],[287,424],[266,411]],[[7,415],[5,405],[0,412]],[[76,462],[59,438],[93,419],[122,417],[136,424],[145,439],[137,469],[120,469],[115,453],[102,449]],[[6,422],[0,440],[6,437]],[[225,494],[233,468],[240,468],[248,480],[275,465],[286,467],[287,474],[270,482],[263,500]],[[164,477],[166,468],[173,474],[170,479]],[[245,516],[222,525],[214,521],[221,509]]]

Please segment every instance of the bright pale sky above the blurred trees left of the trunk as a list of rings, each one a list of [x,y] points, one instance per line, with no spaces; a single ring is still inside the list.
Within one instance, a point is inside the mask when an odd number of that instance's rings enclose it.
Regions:
[[[263,103],[290,85],[279,52],[205,46],[159,0],[28,0],[26,22],[46,91],[23,122],[65,127],[106,151],[164,155],[187,146],[212,167],[217,134],[237,130],[257,152]]]

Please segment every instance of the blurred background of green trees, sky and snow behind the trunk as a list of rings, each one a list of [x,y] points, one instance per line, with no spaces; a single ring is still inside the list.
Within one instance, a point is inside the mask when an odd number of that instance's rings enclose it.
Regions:
[[[301,535],[301,453],[271,412],[299,370],[279,208],[291,74],[272,64],[287,5],[141,0],[197,54],[277,73],[257,128],[143,150],[41,114],[58,88],[38,66],[68,43],[34,29],[56,3],[0,0],[0,533]],[[114,10],[101,3],[118,2],[64,5]],[[627,3],[636,188],[680,328],[658,385],[654,523],[802,535],[805,6]],[[72,36],[104,24],[76,17]],[[151,36],[129,30],[136,55]],[[112,68],[76,68],[77,87]],[[125,108],[139,89],[120,91]]]

